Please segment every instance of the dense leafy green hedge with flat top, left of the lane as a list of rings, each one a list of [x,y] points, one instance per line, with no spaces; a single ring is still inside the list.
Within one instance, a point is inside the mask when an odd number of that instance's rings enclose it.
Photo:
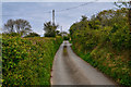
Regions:
[[[61,37],[3,36],[3,85],[50,85],[53,57],[61,42]]]

